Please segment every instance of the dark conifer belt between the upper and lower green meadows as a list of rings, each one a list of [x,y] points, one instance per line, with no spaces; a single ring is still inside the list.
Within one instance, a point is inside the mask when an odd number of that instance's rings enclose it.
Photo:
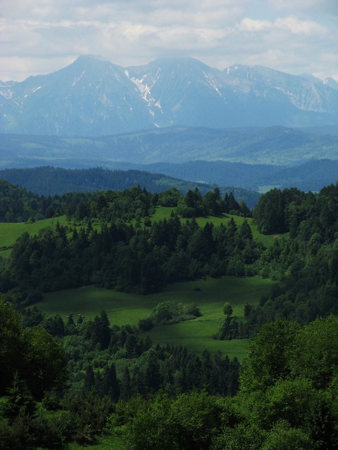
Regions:
[[[2,262],[0,290],[52,291],[95,284],[125,292],[154,293],[165,283],[203,276],[255,274],[261,245],[249,224],[200,228],[192,219],[154,222],[150,228],[115,221],[96,231],[58,223],[37,236],[23,234]],[[20,300],[19,300],[20,301]]]

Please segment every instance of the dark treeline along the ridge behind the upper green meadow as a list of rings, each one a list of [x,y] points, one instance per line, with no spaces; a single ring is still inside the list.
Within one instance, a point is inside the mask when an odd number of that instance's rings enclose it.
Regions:
[[[99,174],[94,173],[92,176],[97,178]],[[86,180],[87,176],[84,176],[84,182]],[[130,184],[133,184],[132,180]],[[45,197],[0,179],[0,221],[2,222],[35,221],[58,217],[62,214],[77,220],[96,218],[105,222],[118,218],[140,219],[154,212],[156,205],[177,206],[178,203],[180,203],[180,214],[183,217],[220,215],[222,212],[230,211],[246,217],[251,215],[244,200],[237,203],[231,191],[226,192],[224,198],[221,198],[219,188],[207,191],[203,196],[199,188],[188,189],[183,195],[177,188],[163,190],[158,194],[139,186],[132,186],[123,191],[106,190],[86,193],[84,190]]]

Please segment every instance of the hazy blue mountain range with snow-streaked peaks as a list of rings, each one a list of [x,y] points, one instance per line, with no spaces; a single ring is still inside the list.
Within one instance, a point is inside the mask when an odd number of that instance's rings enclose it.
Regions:
[[[80,56],[23,82],[0,82],[0,132],[102,136],[163,127],[338,124],[338,83],[260,66],[163,58],[122,68]]]

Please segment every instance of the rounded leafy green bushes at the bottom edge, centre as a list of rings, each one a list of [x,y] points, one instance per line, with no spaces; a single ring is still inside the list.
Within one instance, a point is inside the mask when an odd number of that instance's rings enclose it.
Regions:
[[[110,423],[128,449],[209,449],[226,414],[231,416],[226,402],[206,392],[175,399],[159,394],[154,400],[136,398],[118,405]]]

